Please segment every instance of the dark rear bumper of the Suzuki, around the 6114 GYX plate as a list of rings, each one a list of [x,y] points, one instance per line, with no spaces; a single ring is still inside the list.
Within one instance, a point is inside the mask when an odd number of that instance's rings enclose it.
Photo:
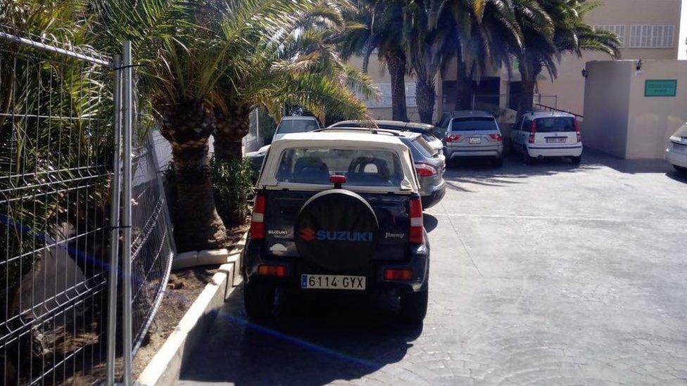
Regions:
[[[425,238],[427,235],[425,234]],[[427,290],[429,278],[429,243],[423,245],[413,245],[410,247],[410,259],[400,261],[372,260],[367,266],[355,272],[327,272],[309,266],[299,257],[276,257],[264,256],[260,253],[262,242],[246,242],[244,252],[241,253],[242,274],[246,281],[256,280],[263,283],[272,283],[280,288],[291,290],[301,289],[302,274],[332,274],[332,275],[355,275],[365,276],[365,291],[343,291],[343,290],[317,290],[322,292],[420,292]],[[258,266],[261,264],[277,264],[286,266],[286,276],[278,278],[276,276],[262,276],[258,274]],[[408,281],[389,281],[384,279],[384,269],[412,269],[412,278]],[[315,290],[303,290],[315,291]]]

